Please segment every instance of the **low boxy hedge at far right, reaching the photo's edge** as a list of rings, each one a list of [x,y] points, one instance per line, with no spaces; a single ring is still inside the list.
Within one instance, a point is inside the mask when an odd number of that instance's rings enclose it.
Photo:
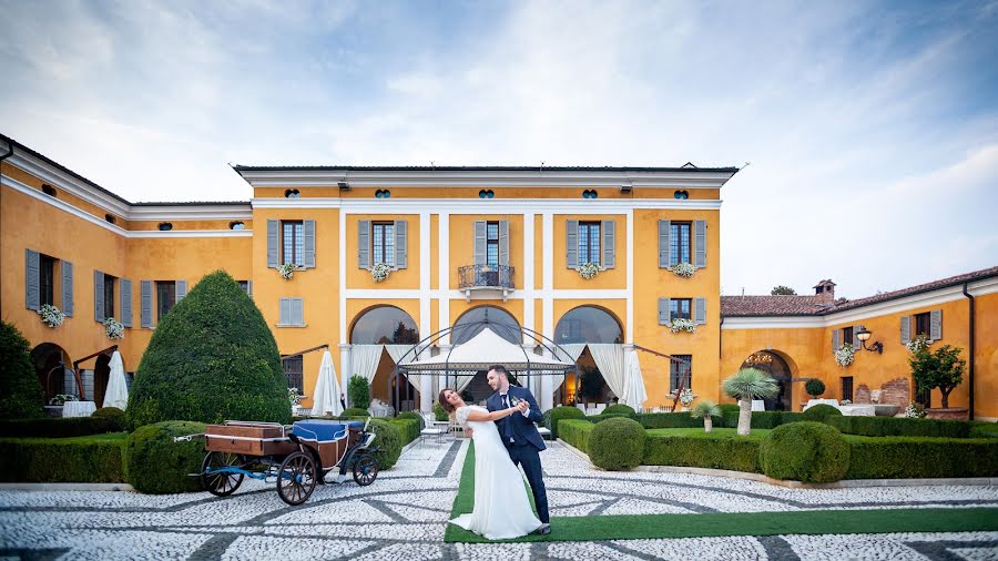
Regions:
[[[998,441],[988,438],[847,435],[846,479],[998,477]]]

